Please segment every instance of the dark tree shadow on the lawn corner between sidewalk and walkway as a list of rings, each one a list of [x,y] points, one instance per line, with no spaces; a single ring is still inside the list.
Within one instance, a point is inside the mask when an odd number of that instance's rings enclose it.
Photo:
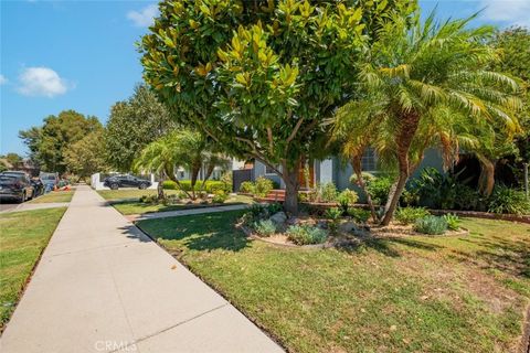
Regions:
[[[233,226],[240,215],[241,211],[206,213],[146,220],[138,222],[137,226],[170,250],[240,252],[251,243]]]

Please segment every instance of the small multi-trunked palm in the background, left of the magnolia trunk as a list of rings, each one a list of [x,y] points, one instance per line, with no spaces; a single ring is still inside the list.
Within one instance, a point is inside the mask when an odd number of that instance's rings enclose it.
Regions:
[[[201,133],[180,129],[146,146],[140,157],[135,161],[135,169],[160,173],[159,197],[163,197],[161,184],[167,176],[176,182],[188,197],[195,200],[195,184],[201,168],[206,165],[205,179],[208,179],[215,165],[224,165],[224,161],[225,159],[212,148],[212,145]],[[179,167],[190,172],[190,192],[182,188],[174,174],[174,169]]]

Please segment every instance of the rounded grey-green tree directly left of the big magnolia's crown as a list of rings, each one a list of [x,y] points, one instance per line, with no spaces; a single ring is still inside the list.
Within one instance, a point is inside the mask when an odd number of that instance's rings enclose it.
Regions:
[[[104,133],[107,162],[119,171],[129,171],[141,150],[174,126],[168,109],[149,88],[137,86],[128,100],[110,109]]]

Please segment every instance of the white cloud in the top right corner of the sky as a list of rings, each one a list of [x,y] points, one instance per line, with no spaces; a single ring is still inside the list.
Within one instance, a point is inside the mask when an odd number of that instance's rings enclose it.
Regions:
[[[530,0],[481,0],[483,19],[530,26]]]

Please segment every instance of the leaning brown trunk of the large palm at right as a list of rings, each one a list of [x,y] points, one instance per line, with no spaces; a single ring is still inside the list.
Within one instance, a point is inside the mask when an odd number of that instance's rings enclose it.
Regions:
[[[398,142],[398,167],[399,167],[399,178],[395,183],[395,189],[392,190],[389,194],[389,202],[386,203],[383,221],[381,225],[389,225],[390,221],[394,216],[395,208],[398,207],[398,202],[400,201],[401,194],[405,189],[406,181],[411,172],[411,165],[409,161],[409,151],[411,150],[412,140],[416,133],[417,126],[420,124],[420,115],[417,111],[406,111],[402,114],[400,130],[396,136]]]

